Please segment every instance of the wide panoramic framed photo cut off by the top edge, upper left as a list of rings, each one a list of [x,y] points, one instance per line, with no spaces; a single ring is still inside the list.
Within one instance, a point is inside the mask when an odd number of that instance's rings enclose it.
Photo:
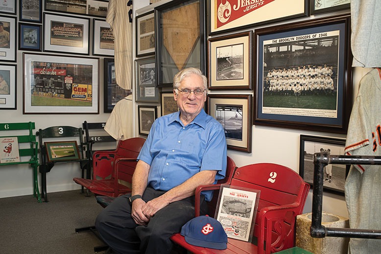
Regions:
[[[76,15],[88,15],[106,18],[108,9],[107,0],[46,0],[45,10]]]

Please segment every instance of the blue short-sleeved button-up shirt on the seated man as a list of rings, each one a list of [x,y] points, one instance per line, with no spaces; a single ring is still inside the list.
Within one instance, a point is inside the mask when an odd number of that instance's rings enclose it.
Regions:
[[[217,170],[215,182],[223,179],[226,149],[222,125],[204,110],[187,126],[176,112],[155,120],[138,160],[150,165],[148,185],[167,191],[202,170]],[[211,200],[211,191],[203,194]]]

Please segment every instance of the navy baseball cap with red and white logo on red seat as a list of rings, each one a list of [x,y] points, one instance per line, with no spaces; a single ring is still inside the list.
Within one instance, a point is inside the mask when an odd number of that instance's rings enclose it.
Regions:
[[[180,234],[191,245],[217,250],[227,248],[228,235],[221,223],[208,215],[198,216],[188,221],[181,228]]]

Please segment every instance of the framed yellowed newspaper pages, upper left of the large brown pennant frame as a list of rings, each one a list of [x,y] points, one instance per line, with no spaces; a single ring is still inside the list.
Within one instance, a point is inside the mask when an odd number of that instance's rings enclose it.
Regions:
[[[153,11],[136,17],[136,56],[155,53],[155,17]]]

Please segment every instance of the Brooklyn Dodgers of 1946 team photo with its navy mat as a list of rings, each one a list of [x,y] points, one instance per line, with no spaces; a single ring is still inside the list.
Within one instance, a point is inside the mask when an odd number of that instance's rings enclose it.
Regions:
[[[344,48],[344,24],[260,36],[259,118],[340,125]]]

